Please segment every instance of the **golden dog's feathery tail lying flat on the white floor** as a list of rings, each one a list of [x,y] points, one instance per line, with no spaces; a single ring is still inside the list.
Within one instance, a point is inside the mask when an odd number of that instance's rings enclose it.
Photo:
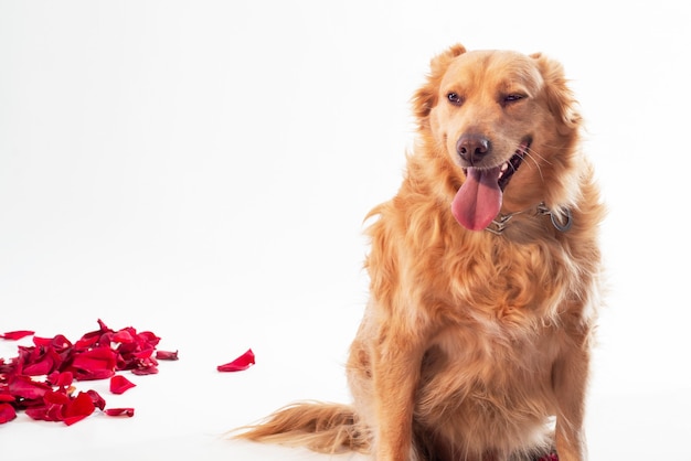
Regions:
[[[317,401],[289,405],[235,431],[235,439],[307,447],[321,453],[364,453],[371,439],[352,407]]]

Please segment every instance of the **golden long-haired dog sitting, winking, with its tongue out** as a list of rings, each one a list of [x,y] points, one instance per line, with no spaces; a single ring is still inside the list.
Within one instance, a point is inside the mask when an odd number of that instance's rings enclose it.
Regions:
[[[352,405],[297,403],[235,437],[378,461],[583,461],[605,208],[563,67],[457,44],[413,110],[403,183],[368,215]]]

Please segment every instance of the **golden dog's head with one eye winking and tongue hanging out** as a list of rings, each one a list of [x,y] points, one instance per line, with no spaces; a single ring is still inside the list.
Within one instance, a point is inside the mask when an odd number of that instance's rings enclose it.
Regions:
[[[451,210],[474,230],[500,210],[562,204],[581,117],[562,66],[541,55],[450,47],[416,93],[419,130],[457,183]]]

